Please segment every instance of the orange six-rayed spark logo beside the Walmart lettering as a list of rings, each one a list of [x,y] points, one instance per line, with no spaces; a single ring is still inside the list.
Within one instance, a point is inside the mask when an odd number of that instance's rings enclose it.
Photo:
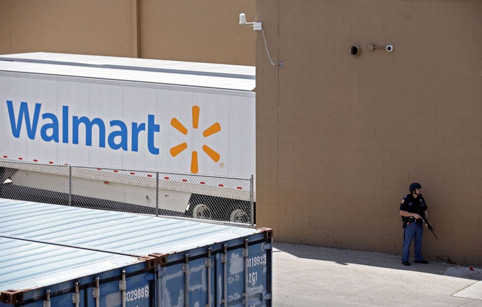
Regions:
[[[192,107],[192,128],[197,129],[199,125],[199,106],[194,105]],[[171,119],[171,126],[174,127],[177,131],[182,133],[183,135],[188,134],[188,129],[184,127],[184,125],[177,120],[175,117]],[[208,137],[217,132],[221,131],[221,125],[219,122],[213,123],[209,126],[205,131],[203,131],[203,136]],[[181,153],[183,150],[188,148],[188,144],[186,142],[176,145],[171,148],[170,153],[173,157]],[[214,161],[218,162],[220,155],[216,153],[213,149],[209,148],[207,145],[203,146],[203,151]],[[191,172],[196,174],[198,172],[198,163],[197,163],[197,152],[192,151],[191,153]]]

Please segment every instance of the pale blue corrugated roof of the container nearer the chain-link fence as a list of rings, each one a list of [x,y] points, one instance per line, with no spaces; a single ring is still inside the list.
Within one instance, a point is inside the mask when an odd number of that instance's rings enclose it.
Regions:
[[[261,230],[0,199],[0,235],[130,255],[167,254]]]

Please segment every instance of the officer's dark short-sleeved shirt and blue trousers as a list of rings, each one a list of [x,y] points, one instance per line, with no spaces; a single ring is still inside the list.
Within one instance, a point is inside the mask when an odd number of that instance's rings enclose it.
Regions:
[[[400,210],[421,215],[427,210],[425,199],[422,195],[414,198],[412,193],[404,196],[400,204]],[[422,234],[423,223],[421,219],[415,221],[413,217],[402,217],[403,221],[403,248],[402,248],[402,262],[408,261],[410,258],[410,245],[413,243],[415,251],[415,261],[422,261]]]

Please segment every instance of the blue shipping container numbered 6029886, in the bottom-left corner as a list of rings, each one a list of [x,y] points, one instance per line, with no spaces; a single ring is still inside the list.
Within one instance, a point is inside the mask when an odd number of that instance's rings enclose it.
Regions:
[[[122,298],[155,306],[154,265],[154,258],[0,236],[0,306],[122,306]]]

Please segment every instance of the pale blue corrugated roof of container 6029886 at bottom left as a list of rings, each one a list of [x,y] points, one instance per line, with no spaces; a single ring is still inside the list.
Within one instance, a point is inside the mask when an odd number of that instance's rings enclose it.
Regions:
[[[132,256],[0,237],[0,291],[41,288],[141,261]]]

